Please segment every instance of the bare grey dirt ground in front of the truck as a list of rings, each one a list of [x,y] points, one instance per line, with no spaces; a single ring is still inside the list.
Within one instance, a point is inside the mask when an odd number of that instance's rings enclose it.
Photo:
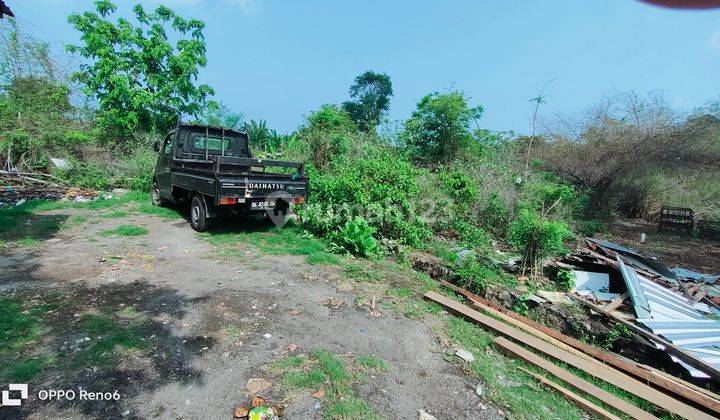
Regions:
[[[99,235],[120,224],[143,226],[149,234]],[[438,418],[500,417],[475,393],[476,381],[444,360],[447,349],[433,333],[441,322],[437,316],[372,316],[369,308],[353,304],[356,296],[339,270],[308,265],[299,256],[215,254],[186,221],[137,214],[84,223],[59,231],[40,248],[0,255],[3,293],[33,299],[57,290],[72,297],[78,312],[109,305],[150,317],[143,338],[152,343],[148,354],[131,354],[109,370],[84,368],[31,384],[30,399],[16,415],[230,418],[233,407],[249,401],[247,380],[266,378],[273,387],[265,396],[287,404],[286,418],[319,418],[322,407],[310,392],[289,395],[267,369],[294,344],[293,354],[326,349],[385,360],[387,371],[366,377],[354,390],[384,417],[417,418],[418,409]],[[335,309],[324,304],[328,299],[344,303]],[[50,348],[64,349],[78,339],[63,335],[67,319],[58,315],[52,322]],[[121,398],[49,403],[33,393],[42,386],[117,389]]]

